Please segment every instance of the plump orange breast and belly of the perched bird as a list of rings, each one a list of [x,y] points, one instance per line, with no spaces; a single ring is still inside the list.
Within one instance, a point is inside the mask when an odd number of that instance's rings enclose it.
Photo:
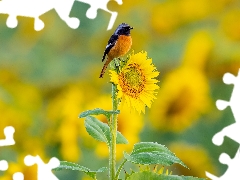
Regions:
[[[110,49],[108,58],[114,59],[120,56],[124,56],[132,46],[131,36],[120,35],[115,46]]]

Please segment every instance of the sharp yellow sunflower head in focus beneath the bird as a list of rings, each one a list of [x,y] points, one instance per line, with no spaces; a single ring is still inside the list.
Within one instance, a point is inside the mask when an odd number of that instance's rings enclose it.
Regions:
[[[152,59],[147,58],[146,52],[131,54],[119,72],[110,71],[111,82],[117,85],[117,97],[122,105],[145,113],[145,106],[151,107],[156,99],[155,90],[159,88],[154,79],[159,75]]]

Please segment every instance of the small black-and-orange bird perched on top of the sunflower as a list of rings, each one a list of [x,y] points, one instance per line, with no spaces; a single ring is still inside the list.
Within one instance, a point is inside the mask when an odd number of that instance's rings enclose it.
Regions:
[[[132,46],[132,38],[130,35],[131,29],[133,29],[133,27],[130,27],[126,23],[122,23],[117,27],[113,35],[110,37],[102,58],[103,62],[107,55],[107,60],[101,71],[100,78],[103,77],[108,64],[114,58],[124,56],[130,50]]]

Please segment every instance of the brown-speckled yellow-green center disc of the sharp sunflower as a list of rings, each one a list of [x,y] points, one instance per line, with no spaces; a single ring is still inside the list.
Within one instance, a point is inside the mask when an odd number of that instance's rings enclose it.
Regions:
[[[122,91],[131,96],[132,98],[138,98],[141,92],[144,90],[146,78],[142,73],[138,64],[130,64],[125,73],[121,73],[119,76],[120,86]]]

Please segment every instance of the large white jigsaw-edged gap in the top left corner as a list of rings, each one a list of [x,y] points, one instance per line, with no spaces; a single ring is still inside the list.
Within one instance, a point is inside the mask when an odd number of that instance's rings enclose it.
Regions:
[[[76,29],[80,24],[79,19],[69,17],[73,3],[74,0],[2,0],[0,1],[0,13],[9,15],[6,22],[9,28],[17,27],[17,16],[23,16],[34,18],[34,29],[40,31],[45,25],[39,17],[55,9],[69,27]]]

